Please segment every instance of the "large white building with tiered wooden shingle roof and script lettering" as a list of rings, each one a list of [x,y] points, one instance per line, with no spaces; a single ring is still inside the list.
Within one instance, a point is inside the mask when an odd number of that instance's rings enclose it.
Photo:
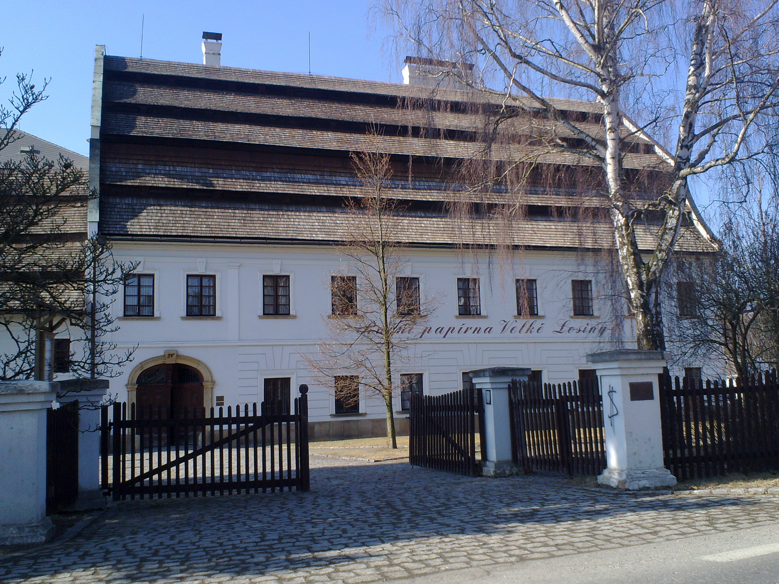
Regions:
[[[422,112],[456,139],[398,129],[422,123],[397,104],[427,99],[428,88],[107,57],[101,47],[95,71],[90,181],[100,199],[90,227],[111,239],[115,259],[137,266],[114,304],[111,341],[135,350],[111,381],[119,399],[289,403],[306,383],[312,439],[383,435],[382,400],[340,402],[306,358],[327,338],[332,276],[353,273],[338,243],[355,220],[344,199],[365,194],[349,156],[367,150],[368,125],[382,126],[379,149],[392,155],[392,188],[408,204],[400,277],[437,304],[394,371],[405,388],[395,397],[401,433],[409,391],[451,392],[468,371],[499,365],[569,382],[591,375],[588,353],[634,346],[603,251],[608,223],[555,220],[549,210],[602,201],[565,189],[528,195],[532,209],[507,251],[498,221],[456,222],[442,204],[453,176],[444,171],[470,151],[465,122]],[[456,90],[435,97],[462,100]],[[509,195],[496,191],[495,201]],[[713,251],[695,221],[684,246]]]

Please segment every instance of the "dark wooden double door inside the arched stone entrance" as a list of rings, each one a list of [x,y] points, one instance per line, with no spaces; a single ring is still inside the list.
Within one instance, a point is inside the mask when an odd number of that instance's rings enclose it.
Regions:
[[[203,377],[189,365],[166,363],[142,371],[137,380],[138,417],[182,417],[203,409]]]

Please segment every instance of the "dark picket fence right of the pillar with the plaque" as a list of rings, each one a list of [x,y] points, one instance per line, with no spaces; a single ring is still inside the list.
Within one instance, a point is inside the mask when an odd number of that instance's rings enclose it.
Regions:
[[[776,371],[702,382],[660,376],[664,463],[679,480],[779,469]]]

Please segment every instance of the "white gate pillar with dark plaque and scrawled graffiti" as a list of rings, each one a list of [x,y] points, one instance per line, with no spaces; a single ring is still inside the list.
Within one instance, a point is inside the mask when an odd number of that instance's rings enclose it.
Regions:
[[[662,351],[613,350],[587,355],[601,385],[606,468],[597,482],[636,490],[672,487],[676,477],[663,466],[663,436],[657,375]]]

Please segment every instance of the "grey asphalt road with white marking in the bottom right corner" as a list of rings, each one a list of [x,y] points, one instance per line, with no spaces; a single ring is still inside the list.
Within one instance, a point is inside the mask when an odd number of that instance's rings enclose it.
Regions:
[[[466,568],[396,584],[776,584],[779,529],[763,526],[590,554]]]

